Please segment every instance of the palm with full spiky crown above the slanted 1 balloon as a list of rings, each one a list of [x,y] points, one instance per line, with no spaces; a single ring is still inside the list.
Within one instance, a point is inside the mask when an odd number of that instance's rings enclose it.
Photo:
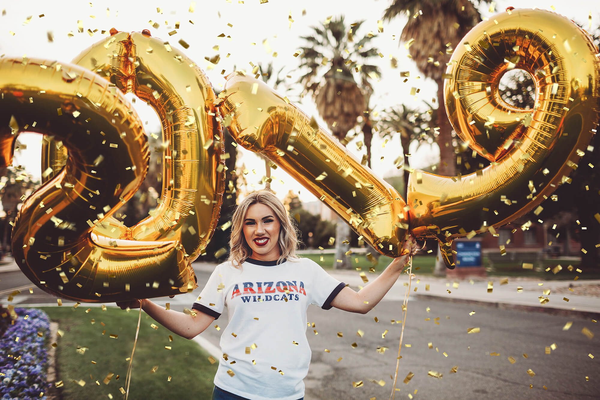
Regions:
[[[344,146],[349,142],[347,133],[357,125],[356,119],[367,111],[368,98],[373,92],[368,82],[380,74],[379,67],[367,64],[379,53],[370,44],[374,34],[355,40],[363,22],[347,26],[340,16],[322,26],[312,26],[311,35],[302,37],[306,43],[301,47],[299,66],[307,70],[299,79],[304,86],[302,95],[313,95],[319,115]],[[334,259],[342,262],[334,261],[334,268],[351,268],[346,255],[350,232],[350,226],[338,217]]]

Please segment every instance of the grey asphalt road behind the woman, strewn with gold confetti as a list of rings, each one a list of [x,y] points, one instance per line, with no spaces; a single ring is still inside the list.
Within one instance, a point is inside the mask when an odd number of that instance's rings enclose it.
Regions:
[[[179,311],[189,308],[209,273],[197,271],[197,276],[201,283],[193,293],[155,301],[161,305],[169,301],[171,308]],[[28,284],[20,271],[0,274],[0,291]],[[0,298],[5,303],[5,295]],[[18,305],[44,302],[56,303],[56,298],[35,286],[34,294],[24,290],[14,300]],[[475,314],[469,315],[472,311]],[[598,398],[600,335],[598,324],[591,320],[418,298],[409,302],[407,313],[396,384],[400,391],[395,392],[398,398],[409,394],[415,399]],[[307,330],[313,354],[304,380],[305,399],[388,399],[401,331],[401,324],[391,320],[401,320],[398,300],[382,300],[366,315],[309,307],[308,321],[315,327]],[[563,330],[568,321],[572,321],[571,328]],[[224,312],[218,324],[224,327],[226,323]],[[467,333],[474,327],[479,333]],[[584,327],[596,335],[589,339],[581,332]],[[359,329],[364,331],[362,337],[357,335]],[[389,332],[382,338],[385,330]],[[209,327],[202,336],[218,346],[221,332]],[[388,349],[381,353],[378,347]],[[509,357],[514,357],[514,363]],[[453,366],[457,366],[455,373],[451,372]],[[430,371],[441,377],[431,377]],[[414,375],[405,384],[410,372]],[[361,381],[354,387],[353,383]]]

